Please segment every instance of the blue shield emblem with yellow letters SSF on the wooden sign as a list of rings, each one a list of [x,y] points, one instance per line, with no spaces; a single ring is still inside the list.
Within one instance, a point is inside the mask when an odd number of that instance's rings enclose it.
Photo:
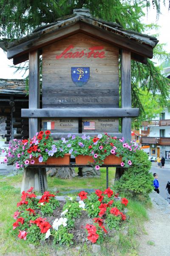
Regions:
[[[71,67],[71,79],[78,86],[85,85],[90,78],[89,67]]]

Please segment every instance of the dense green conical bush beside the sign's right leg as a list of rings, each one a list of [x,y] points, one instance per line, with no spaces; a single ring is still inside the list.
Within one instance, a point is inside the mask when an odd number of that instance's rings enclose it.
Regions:
[[[153,177],[149,172],[151,163],[143,150],[137,150],[134,155],[133,166],[125,170],[114,188],[126,196],[145,201],[153,190]]]

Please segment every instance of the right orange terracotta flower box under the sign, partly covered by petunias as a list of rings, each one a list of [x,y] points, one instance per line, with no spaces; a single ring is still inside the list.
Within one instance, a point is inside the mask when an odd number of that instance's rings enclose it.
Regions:
[[[122,158],[117,157],[116,155],[108,155],[105,160],[104,164],[116,165],[121,164]],[[76,164],[90,164],[94,163],[94,158],[90,155],[77,155],[76,156]]]

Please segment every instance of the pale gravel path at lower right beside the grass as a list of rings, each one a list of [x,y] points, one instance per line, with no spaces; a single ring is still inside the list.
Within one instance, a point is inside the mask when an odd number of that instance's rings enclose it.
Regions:
[[[146,233],[139,237],[140,256],[170,256],[170,205],[152,193],[149,221],[144,224]]]

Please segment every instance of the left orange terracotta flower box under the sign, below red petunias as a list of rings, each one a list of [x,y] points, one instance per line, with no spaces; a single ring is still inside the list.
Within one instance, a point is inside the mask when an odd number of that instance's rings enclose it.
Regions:
[[[70,156],[71,154],[65,154],[63,157],[59,156],[59,157],[55,157],[55,156],[51,156],[47,159],[46,162],[42,162],[39,163],[38,161],[38,157],[37,158],[32,158],[34,159],[35,163],[34,164],[30,164],[30,165],[68,165],[70,164]]]

